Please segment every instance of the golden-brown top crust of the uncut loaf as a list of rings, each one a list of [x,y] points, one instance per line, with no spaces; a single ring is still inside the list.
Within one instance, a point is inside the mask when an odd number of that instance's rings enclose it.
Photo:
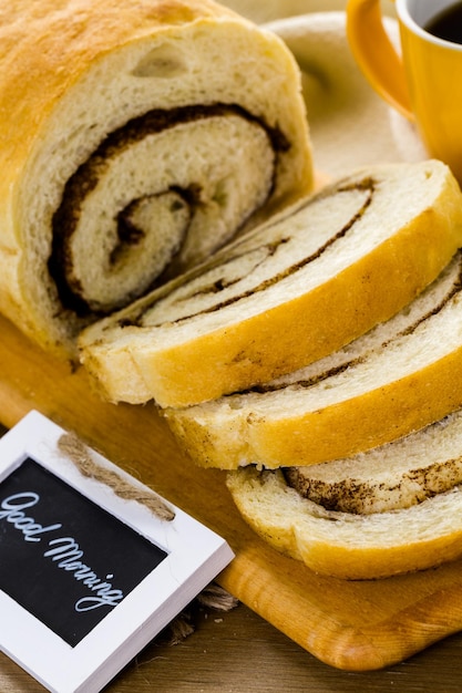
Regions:
[[[101,0],[97,12],[89,0],[62,9],[55,0],[2,4],[0,164],[12,167],[22,162],[54,103],[105,51],[181,23],[236,17],[208,0],[142,0],[135,11],[130,0]]]

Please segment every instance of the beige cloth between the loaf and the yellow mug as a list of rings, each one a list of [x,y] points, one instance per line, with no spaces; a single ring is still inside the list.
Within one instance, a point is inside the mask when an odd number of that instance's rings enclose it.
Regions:
[[[363,165],[428,156],[414,126],[376,94],[356,65],[346,38],[343,0],[226,4],[254,21],[271,19],[265,27],[280,35],[297,59],[318,173],[335,178]],[[310,11],[320,7],[329,11]],[[305,13],[297,14],[300,10]],[[387,19],[387,28],[398,44],[394,18]]]

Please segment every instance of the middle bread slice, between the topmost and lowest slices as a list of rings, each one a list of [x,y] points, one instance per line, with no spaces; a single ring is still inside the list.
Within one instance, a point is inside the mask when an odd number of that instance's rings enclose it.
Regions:
[[[189,455],[235,469],[348,457],[462,406],[462,255],[388,322],[325,360],[165,415]]]

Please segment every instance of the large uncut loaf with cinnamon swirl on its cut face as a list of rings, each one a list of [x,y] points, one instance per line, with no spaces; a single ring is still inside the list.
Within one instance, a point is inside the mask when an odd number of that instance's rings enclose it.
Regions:
[[[0,311],[47,349],[312,187],[298,66],[211,0],[1,0]]]

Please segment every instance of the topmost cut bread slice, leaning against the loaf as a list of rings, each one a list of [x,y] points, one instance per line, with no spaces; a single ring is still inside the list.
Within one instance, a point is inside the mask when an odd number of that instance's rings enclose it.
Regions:
[[[387,320],[461,240],[461,193],[443,164],[360,170],[86,330],[81,360],[112,401],[183,407],[216,399],[318,360]],[[215,406],[178,421],[201,421]],[[225,438],[228,423],[233,416]]]

